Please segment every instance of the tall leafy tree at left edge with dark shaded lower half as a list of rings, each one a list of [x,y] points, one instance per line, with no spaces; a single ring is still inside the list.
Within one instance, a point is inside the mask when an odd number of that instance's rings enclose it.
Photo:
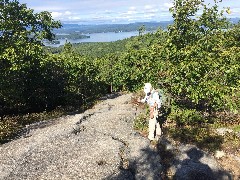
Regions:
[[[46,59],[41,41],[53,39],[52,30],[60,27],[49,12],[34,13],[17,0],[0,0],[0,113],[34,106],[30,99],[39,94]]]

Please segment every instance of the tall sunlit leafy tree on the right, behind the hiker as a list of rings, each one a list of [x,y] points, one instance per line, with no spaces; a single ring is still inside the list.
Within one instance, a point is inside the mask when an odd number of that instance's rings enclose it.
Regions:
[[[229,22],[225,10],[219,10],[219,2],[214,0],[209,6],[203,0],[174,0],[171,8],[174,23],[169,26],[166,43],[166,59],[170,62],[166,81],[172,93],[185,105],[187,101],[190,108],[237,108],[239,53],[233,54],[232,49],[239,47],[236,43],[229,47]]]

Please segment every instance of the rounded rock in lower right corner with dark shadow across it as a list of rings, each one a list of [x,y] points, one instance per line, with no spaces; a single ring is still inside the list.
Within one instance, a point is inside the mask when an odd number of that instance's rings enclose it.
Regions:
[[[160,154],[168,154],[168,173],[176,180],[231,180],[233,176],[225,171],[209,153],[190,144],[178,144],[162,137]]]

